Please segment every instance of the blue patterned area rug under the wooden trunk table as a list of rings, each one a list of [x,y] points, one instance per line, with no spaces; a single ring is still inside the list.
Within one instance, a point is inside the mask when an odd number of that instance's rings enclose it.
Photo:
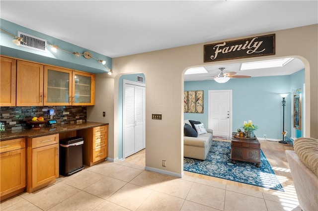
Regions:
[[[261,151],[261,165],[236,161],[231,162],[231,142],[213,141],[205,160],[184,158],[183,169],[194,173],[284,191],[272,167]]]

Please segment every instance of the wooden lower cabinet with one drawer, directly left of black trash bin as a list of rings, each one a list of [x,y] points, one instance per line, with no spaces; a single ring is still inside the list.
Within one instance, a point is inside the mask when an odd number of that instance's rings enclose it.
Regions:
[[[59,177],[59,134],[28,138],[27,186],[31,193]]]

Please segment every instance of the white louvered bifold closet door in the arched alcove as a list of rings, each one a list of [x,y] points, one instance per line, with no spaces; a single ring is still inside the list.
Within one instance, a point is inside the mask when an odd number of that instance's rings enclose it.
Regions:
[[[124,157],[145,149],[145,87],[125,84]]]

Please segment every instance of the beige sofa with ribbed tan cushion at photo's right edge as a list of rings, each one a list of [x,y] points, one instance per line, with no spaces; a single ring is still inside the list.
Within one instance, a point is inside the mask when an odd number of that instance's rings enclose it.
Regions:
[[[295,151],[286,151],[299,205],[303,211],[318,209],[318,140],[300,138]]]

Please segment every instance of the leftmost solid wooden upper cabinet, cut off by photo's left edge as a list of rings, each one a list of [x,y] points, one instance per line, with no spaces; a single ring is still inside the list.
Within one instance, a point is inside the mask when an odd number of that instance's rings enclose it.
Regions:
[[[0,106],[15,106],[16,60],[0,58]]]

